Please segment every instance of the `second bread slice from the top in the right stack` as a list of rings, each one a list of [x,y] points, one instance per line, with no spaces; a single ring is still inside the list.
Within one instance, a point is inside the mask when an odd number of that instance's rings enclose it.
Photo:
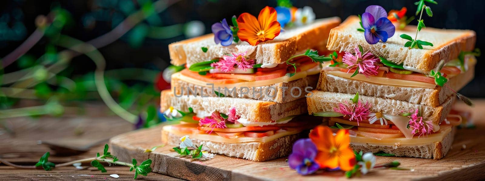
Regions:
[[[459,91],[473,79],[474,75],[475,66],[473,64],[465,73],[450,78],[447,84],[453,90]],[[320,72],[316,90],[345,94],[358,92],[362,96],[391,98],[431,107],[439,106],[447,101],[448,97],[454,96],[454,92],[446,87],[423,88],[374,84],[326,74],[323,70]]]

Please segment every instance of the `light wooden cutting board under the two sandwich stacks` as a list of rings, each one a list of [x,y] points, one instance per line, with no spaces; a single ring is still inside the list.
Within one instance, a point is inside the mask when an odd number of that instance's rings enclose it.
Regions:
[[[393,160],[401,162],[400,167],[409,170],[379,169],[353,180],[484,180],[485,179],[485,101],[476,102],[473,109],[475,129],[458,129],[453,147],[441,160],[377,156],[376,164]],[[130,162],[131,158],[153,161],[153,172],[191,181],[242,181],[242,180],[341,180],[343,171],[319,171],[311,176],[300,176],[288,167],[286,157],[253,162],[245,159],[216,155],[208,161],[175,157],[173,145],[145,152],[161,145],[161,126],[137,130],[113,137],[111,148],[120,160]],[[463,145],[466,148],[463,149]]]

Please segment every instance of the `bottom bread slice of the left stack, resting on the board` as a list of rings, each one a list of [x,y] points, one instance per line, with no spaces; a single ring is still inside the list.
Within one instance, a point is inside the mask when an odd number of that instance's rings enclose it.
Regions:
[[[168,145],[178,145],[180,137],[162,129],[162,142]],[[291,145],[305,136],[305,131],[295,135],[288,135],[270,142],[221,143],[192,138],[195,145],[204,145],[203,149],[210,153],[225,154],[227,156],[244,158],[251,161],[264,162],[283,157],[291,153]],[[308,136],[308,134],[306,134]]]

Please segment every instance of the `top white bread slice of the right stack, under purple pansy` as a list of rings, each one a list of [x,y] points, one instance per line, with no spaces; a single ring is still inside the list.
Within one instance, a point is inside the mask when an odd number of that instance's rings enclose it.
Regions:
[[[328,37],[328,50],[355,53],[356,46],[360,44],[364,51],[370,51],[375,56],[383,56],[396,64],[404,63],[404,66],[420,73],[429,73],[441,60],[448,62],[455,59],[460,51],[473,50],[476,42],[476,33],[473,30],[427,27],[421,29],[417,39],[431,42],[434,46],[409,49],[404,47],[407,40],[399,36],[407,34],[414,39],[416,26],[406,26],[404,30],[396,29],[394,36],[387,42],[376,44],[367,43],[364,33],[357,31],[357,28],[360,28],[357,16],[349,16],[339,27],[333,28]]]

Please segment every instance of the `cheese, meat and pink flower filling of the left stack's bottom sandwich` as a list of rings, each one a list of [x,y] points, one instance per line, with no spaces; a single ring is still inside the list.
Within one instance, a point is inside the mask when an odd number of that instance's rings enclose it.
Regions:
[[[178,136],[189,135],[191,138],[214,142],[265,143],[300,133],[321,123],[321,121],[315,121],[310,116],[296,115],[271,123],[262,123],[242,118],[236,113],[235,108],[226,113],[214,111],[209,116],[203,116],[205,114],[196,114],[193,111],[183,112],[170,108],[164,112],[164,116],[168,121],[178,124],[164,126],[163,130]]]

